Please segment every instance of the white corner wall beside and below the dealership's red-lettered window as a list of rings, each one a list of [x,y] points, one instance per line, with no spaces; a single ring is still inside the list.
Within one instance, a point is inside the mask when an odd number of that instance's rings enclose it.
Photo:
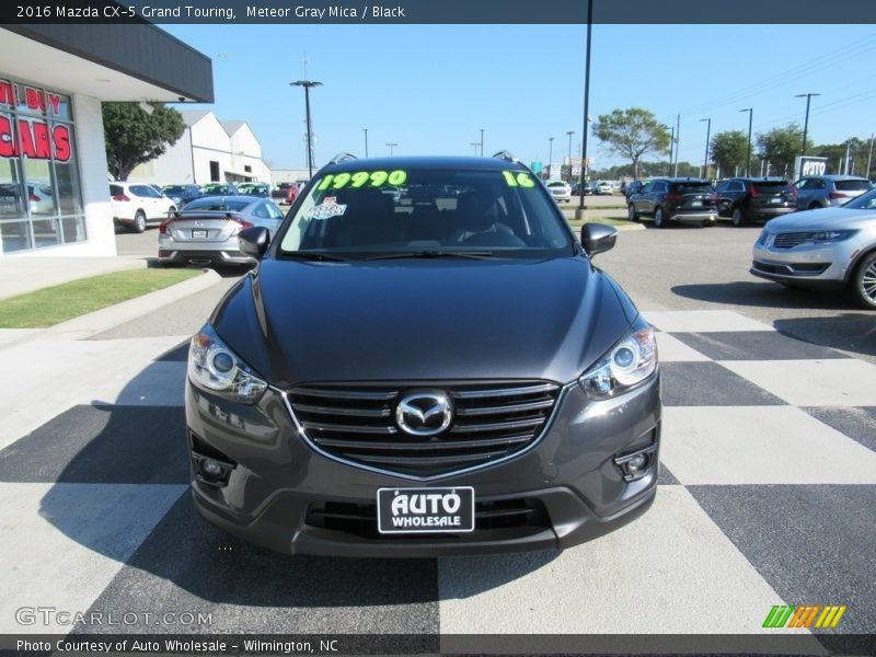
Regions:
[[[110,208],[106,178],[106,150],[103,140],[101,101],[74,94],[76,153],[79,160],[82,205],[85,209],[88,241],[7,254],[9,257],[115,256],[116,238]]]

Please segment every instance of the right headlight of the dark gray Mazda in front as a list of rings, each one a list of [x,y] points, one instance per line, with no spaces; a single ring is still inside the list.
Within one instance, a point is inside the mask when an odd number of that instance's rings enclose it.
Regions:
[[[654,330],[641,316],[630,332],[587,370],[578,382],[595,400],[607,400],[634,389],[657,369]]]

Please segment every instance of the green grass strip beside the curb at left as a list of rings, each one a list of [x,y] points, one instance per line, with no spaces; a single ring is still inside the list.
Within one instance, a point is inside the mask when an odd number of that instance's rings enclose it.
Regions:
[[[200,269],[127,269],[0,299],[0,328],[54,326],[199,274]]]

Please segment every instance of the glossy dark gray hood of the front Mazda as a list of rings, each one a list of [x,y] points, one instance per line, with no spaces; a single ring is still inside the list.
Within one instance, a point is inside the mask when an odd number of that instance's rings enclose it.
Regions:
[[[214,312],[269,382],[577,379],[635,319],[584,257],[265,260]]]

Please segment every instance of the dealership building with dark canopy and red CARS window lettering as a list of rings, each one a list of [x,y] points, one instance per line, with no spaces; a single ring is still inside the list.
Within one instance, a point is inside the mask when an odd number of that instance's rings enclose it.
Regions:
[[[115,255],[104,101],[211,103],[211,62],[148,23],[0,27],[0,257]]]

